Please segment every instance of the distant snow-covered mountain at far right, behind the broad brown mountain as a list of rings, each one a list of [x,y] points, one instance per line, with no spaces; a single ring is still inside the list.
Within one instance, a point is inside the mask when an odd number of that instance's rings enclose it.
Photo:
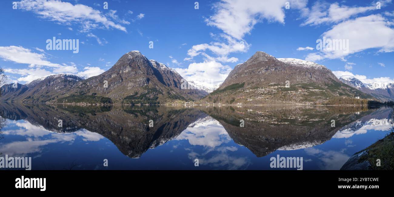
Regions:
[[[359,89],[364,93],[370,94],[381,101],[394,100],[394,83],[364,83],[361,80],[349,75],[344,75],[340,77],[339,80],[353,88]]]

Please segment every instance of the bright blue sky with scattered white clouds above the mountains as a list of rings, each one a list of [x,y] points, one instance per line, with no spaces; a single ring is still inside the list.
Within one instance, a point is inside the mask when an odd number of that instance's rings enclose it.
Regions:
[[[22,0],[17,9],[0,1],[0,67],[22,84],[51,73],[91,77],[138,50],[187,79],[222,81],[264,51],[323,64],[337,76],[394,82],[391,0],[378,1],[380,9],[368,0],[210,0],[195,9],[196,1]],[[348,39],[349,52],[317,50],[323,36]],[[78,39],[79,53],[46,50],[52,37]]]

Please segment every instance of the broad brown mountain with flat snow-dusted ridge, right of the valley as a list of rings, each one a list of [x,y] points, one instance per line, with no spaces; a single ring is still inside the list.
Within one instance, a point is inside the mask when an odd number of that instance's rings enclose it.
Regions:
[[[234,67],[223,84],[202,101],[221,104],[366,104],[368,100],[363,99],[374,98],[344,84],[323,65],[294,58],[277,59],[258,51]]]

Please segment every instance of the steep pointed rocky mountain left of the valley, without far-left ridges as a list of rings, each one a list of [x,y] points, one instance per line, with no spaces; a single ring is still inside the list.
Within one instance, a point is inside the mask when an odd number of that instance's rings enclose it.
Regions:
[[[164,104],[174,100],[197,100],[207,93],[182,89],[182,77],[173,69],[130,51],[101,75],[79,82],[58,103],[114,102]]]

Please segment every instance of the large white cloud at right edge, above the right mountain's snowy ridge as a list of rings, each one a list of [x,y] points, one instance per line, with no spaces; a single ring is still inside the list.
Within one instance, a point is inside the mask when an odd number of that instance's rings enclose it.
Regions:
[[[318,53],[310,53],[305,58],[309,61],[317,61],[325,58],[335,59],[363,51],[365,49],[379,49],[379,52],[394,51],[393,23],[381,15],[370,15],[348,20],[335,25],[322,37],[327,39],[349,40],[348,53],[346,50],[325,50]],[[351,30],[351,31],[350,31]]]

